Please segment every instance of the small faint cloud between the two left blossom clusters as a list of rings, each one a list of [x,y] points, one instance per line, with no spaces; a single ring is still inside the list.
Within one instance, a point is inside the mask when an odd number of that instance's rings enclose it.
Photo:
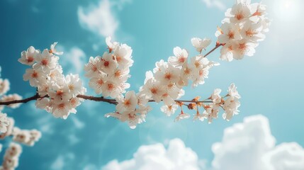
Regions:
[[[86,60],[86,54],[79,47],[72,47],[68,51],[63,46],[58,46],[64,54],[60,56],[60,64],[68,73],[79,74],[83,72]]]

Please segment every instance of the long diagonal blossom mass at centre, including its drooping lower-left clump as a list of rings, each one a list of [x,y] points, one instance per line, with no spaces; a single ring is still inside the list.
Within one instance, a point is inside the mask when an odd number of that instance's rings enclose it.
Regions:
[[[118,95],[116,112],[106,114],[106,117],[118,118],[120,121],[128,121],[130,128],[136,128],[137,123],[145,121],[145,116],[151,110],[146,106],[148,101],[157,103],[163,101],[170,113],[177,108],[176,99],[184,96],[182,89],[192,81],[192,86],[204,84],[208,77],[209,69],[219,65],[218,62],[209,61],[201,55],[203,49],[210,44],[210,39],[192,38],[191,40],[199,55],[191,57],[188,62],[188,52],[181,47],[175,47],[174,56],[169,57],[168,62],[160,60],[156,62],[153,72],[146,72],[145,83],[140,87],[139,93],[128,91],[125,96]]]

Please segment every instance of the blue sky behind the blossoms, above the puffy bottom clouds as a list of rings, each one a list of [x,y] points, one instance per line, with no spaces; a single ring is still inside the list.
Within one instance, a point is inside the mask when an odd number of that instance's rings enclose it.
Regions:
[[[1,77],[10,80],[10,93],[32,96],[35,89],[22,79],[26,67],[17,62],[20,53],[30,45],[41,50],[58,41],[65,52],[60,58],[64,73],[80,74],[87,86],[82,65],[90,56],[102,55],[106,50],[104,37],[112,35],[133,47],[135,63],[130,69],[129,83],[130,90],[137,91],[145,72],[153,69],[155,62],[167,60],[174,47],[184,47],[193,56],[196,52],[191,47],[191,38],[208,37],[215,42],[216,26],[220,26],[225,8],[233,3],[232,0],[3,0],[0,1]],[[16,110],[5,110],[19,127],[43,131],[35,147],[23,147],[19,169],[84,169],[88,165],[99,169],[113,159],[119,162],[131,159],[141,145],[159,142],[167,146],[174,138],[181,139],[196,152],[198,159],[210,164],[214,157],[211,147],[222,140],[225,128],[257,114],[269,119],[276,144],[297,142],[304,146],[301,107],[304,21],[299,7],[303,1],[265,0],[264,4],[268,6],[272,24],[254,57],[220,61],[220,67],[210,70],[206,84],[185,89],[184,98],[197,94],[208,97],[213,89],[225,91],[234,82],[242,98],[240,115],[230,122],[218,119],[210,125],[191,120],[174,123],[174,117],[167,118],[160,112],[160,106],[152,104],[147,123],[130,130],[125,123],[103,118],[104,113],[114,109],[106,103],[85,101],[77,115],[61,120],[35,109],[31,102]],[[89,23],[87,18],[81,21],[81,16],[89,16],[98,8],[107,13],[99,13],[96,23]],[[219,50],[209,58],[219,61],[218,57]],[[89,94],[94,93],[89,90]]]

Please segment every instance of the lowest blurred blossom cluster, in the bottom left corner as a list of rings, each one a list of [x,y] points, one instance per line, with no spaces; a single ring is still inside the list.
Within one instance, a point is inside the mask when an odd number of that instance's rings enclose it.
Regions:
[[[0,170],[16,169],[16,167],[18,166],[21,152],[22,152],[21,145],[11,142],[9,148],[6,149],[6,152],[4,154],[4,161],[2,162],[2,166],[0,166]]]

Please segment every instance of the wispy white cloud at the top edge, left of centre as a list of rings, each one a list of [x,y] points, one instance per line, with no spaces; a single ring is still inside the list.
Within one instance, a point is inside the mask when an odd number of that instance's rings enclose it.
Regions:
[[[85,12],[89,11],[89,12]],[[108,0],[102,0],[98,6],[91,6],[84,9],[78,8],[79,23],[82,27],[91,30],[103,37],[115,36],[118,29],[119,22],[111,11],[111,2]]]

